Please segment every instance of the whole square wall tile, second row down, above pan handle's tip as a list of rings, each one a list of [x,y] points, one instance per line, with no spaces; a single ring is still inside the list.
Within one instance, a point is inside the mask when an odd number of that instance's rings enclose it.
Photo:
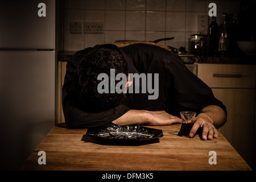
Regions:
[[[185,31],[185,12],[167,12],[166,31]]]

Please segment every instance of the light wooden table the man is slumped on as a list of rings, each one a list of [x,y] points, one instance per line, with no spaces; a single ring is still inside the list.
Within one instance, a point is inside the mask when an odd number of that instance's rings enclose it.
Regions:
[[[55,126],[23,164],[22,170],[251,170],[220,133],[217,139],[201,140],[199,135],[179,137],[180,124],[146,127],[163,130],[164,137],[156,143],[117,146],[92,139],[81,140],[86,129]],[[38,164],[39,151],[46,152],[46,164]],[[209,164],[210,151],[216,152],[217,164]]]

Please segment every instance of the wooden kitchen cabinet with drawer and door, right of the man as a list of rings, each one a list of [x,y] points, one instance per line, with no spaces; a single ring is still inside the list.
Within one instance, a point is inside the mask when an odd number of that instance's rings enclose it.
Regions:
[[[218,129],[252,167],[255,147],[256,65],[197,64],[197,76],[212,88],[227,108],[228,117]]]

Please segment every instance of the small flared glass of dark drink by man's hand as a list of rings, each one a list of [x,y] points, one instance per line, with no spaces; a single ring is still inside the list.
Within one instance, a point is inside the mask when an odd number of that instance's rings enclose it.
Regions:
[[[182,137],[189,137],[190,130],[192,129],[196,113],[191,111],[182,111],[180,112],[181,117],[181,127],[179,131],[179,135]]]

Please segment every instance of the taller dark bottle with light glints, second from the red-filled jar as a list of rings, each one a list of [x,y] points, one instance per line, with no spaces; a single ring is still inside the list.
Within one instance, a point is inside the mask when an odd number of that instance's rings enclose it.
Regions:
[[[225,55],[228,51],[229,42],[228,42],[228,22],[226,13],[223,14],[223,23],[220,25],[219,29],[219,44],[218,51]]]

